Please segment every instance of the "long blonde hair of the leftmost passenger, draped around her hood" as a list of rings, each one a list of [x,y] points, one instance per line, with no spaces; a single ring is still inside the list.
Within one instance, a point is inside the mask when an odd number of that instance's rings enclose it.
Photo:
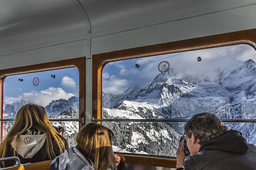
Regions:
[[[68,146],[65,139],[50,125],[50,120],[48,120],[44,108],[35,104],[26,104],[19,109],[13,127],[0,145],[0,157],[6,157],[6,152],[8,152],[15,135],[14,147],[16,148],[14,149],[14,156],[17,156],[18,138],[29,129],[40,130],[46,135],[44,144],[46,146],[46,154],[43,157],[48,156],[48,159],[53,159],[58,156],[54,152],[56,148],[53,148],[53,142],[58,146],[60,154]]]

